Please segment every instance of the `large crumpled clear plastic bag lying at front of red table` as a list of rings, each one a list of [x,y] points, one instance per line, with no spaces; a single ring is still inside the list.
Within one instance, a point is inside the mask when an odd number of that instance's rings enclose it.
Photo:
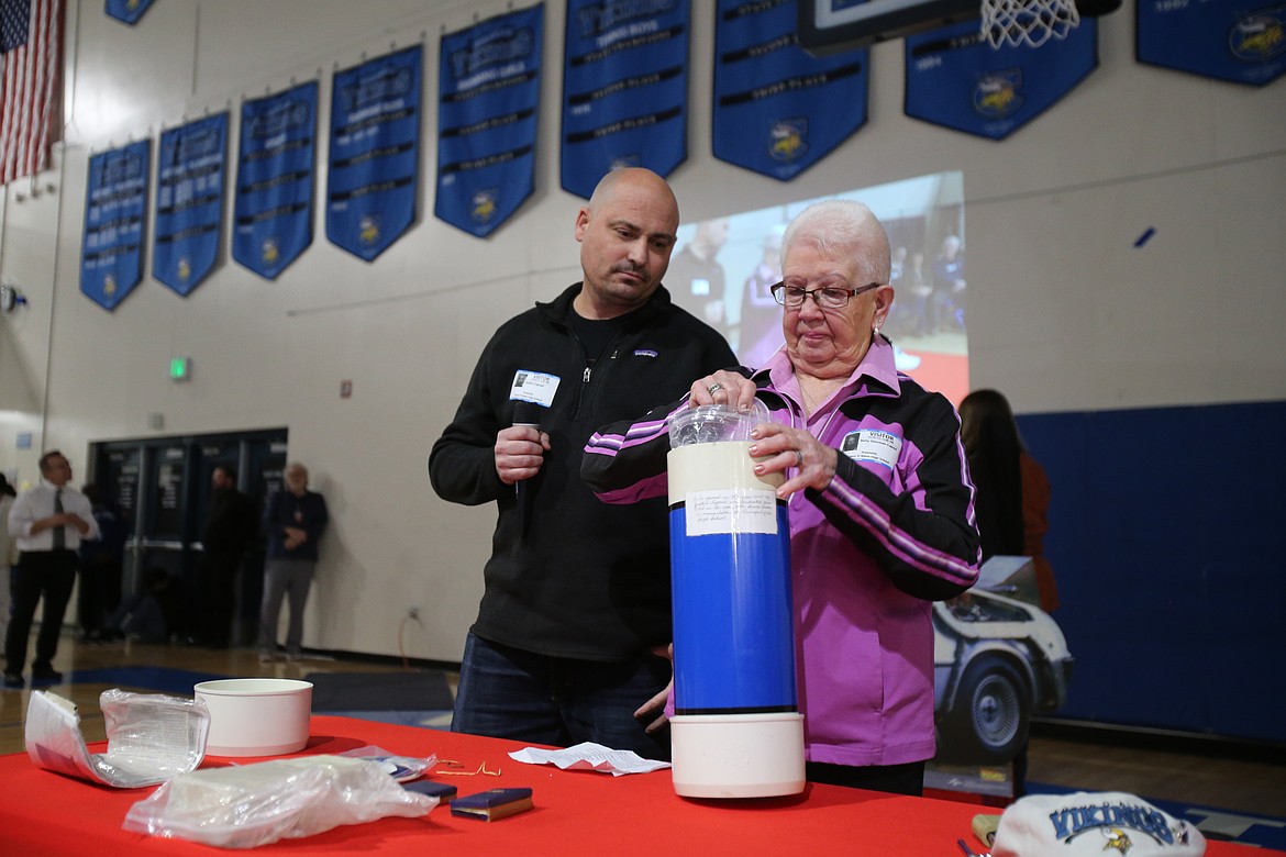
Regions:
[[[177,776],[135,803],[123,827],[219,848],[255,848],[388,816],[428,815],[437,798],[381,766],[341,755],[255,762]]]

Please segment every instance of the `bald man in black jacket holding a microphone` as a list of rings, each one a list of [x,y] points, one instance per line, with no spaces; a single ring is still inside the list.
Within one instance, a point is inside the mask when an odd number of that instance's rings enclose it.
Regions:
[[[664,179],[608,173],[576,216],[584,281],[496,330],[433,445],[439,496],[499,513],[455,731],[669,758],[646,729],[671,677],[665,502],[601,504],[579,473],[595,428],[736,364],[661,287],[678,226]]]

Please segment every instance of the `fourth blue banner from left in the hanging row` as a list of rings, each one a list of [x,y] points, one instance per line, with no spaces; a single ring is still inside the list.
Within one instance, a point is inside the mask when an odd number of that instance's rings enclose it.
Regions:
[[[325,235],[368,262],[415,221],[423,48],[336,72]]]

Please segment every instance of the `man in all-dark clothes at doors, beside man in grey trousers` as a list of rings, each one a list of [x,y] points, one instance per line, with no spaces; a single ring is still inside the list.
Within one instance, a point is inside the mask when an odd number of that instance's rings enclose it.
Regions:
[[[201,642],[211,649],[226,649],[231,637],[233,609],[237,604],[237,574],[242,556],[255,537],[255,511],[249,499],[237,490],[237,470],[215,468],[213,493],[201,537]]]

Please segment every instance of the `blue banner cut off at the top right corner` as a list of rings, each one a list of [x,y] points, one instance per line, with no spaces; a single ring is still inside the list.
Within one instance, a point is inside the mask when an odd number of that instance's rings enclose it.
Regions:
[[[1264,0],[1136,0],[1134,58],[1263,86],[1286,71],[1286,5]]]

